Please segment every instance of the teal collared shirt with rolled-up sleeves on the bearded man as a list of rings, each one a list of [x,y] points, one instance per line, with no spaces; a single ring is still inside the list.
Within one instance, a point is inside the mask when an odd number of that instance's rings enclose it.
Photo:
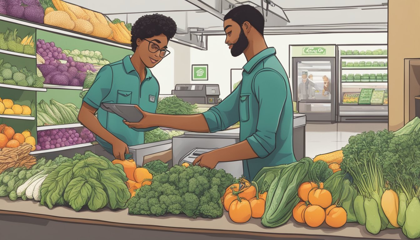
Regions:
[[[252,180],[265,166],[290,164],[293,153],[293,102],[286,71],[269,47],[243,67],[242,81],[221,103],[203,113],[210,132],[240,121],[240,141],[247,140],[258,158],[243,161]],[[235,155],[235,153],[232,153]]]

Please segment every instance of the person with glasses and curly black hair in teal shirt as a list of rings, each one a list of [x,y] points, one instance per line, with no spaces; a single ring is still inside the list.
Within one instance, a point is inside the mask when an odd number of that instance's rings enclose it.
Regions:
[[[159,83],[150,69],[169,54],[167,45],[175,33],[176,23],[172,18],[161,14],[142,16],[131,29],[134,54],[98,72],[83,98],[78,119],[97,135],[97,142],[108,152],[102,155],[124,160],[129,153],[128,146],[143,144],[144,132],[155,129],[128,128],[120,116],[103,110],[100,104],[136,104],[144,111],[155,113]]]

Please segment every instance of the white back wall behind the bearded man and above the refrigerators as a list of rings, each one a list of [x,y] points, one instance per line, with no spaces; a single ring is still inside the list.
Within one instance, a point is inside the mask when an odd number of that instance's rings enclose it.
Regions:
[[[189,83],[191,81],[191,64],[208,64],[209,80],[192,83],[208,83],[220,85],[220,98],[230,94],[230,69],[241,69],[246,63],[244,55],[232,57],[228,46],[224,43],[225,36],[209,36],[208,49],[191,48],[189,64]],[[384,44],[387,43],[387,33],[333,33],[333,34],[291,34],[267,35],[265,41],[269,47],[276,48],[276,56],[289,74],[289,45],[316,44]],[[165,59],[166,60],[166,59]],[[175,76],[176,77],[176,76]],[[291,77],[289,76],[289,81]]]

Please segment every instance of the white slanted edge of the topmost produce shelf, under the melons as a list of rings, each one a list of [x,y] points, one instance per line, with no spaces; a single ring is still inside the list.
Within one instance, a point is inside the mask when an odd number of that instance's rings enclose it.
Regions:
[[[24,26],[33,27],[35,29],[45,30],[45,31],[48,31],[48,32],[56,33],[56,34],[66,35],[66,36],[69,36],[69,37],[81,38],[81,39],[84,39],[84,40],[89,40],[91,42],[98,42],[98,43],[102,43],[102,44],[106,44],[106,45],[111,45],[111,46],[121,47],[121,48],[131,50],[131,46],[129,46],[129,45],[123,45],[121,43],[113,42],[111,40],[109,40],[109,41],[103,40],[103,39],[96,38],[96,37],[91,36],[91,35],[84,35],[84,34],[81,34],[81,33],[73,32],[73,31],[62,29],[62,28],[55,27],[55,26],[50,26],[50,25],[46,25],[46,24],[36,24],[36,23],[33,23],[33,22],[24,21],[24,20],[19,19],[19,18],[11,18],[9,16],[4,16],[4,15],[1,15],[1,14],[0,14],[0,20],[13,22],[14,24],[21,24],[21,25],[24,25]]]

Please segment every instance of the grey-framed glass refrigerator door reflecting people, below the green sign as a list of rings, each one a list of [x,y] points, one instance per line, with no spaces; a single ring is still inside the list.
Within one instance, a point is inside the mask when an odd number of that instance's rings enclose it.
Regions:
[[[335,120],[334,58],[293,58],[293,93],[307,121]]]

